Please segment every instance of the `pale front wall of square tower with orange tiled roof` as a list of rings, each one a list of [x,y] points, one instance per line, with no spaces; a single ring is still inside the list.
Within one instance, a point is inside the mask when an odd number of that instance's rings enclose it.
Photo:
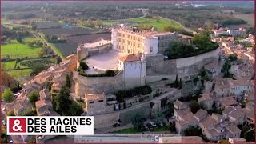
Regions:
[[[140,61],[124,62],[123,70],[123,80],[126,89],[141,86],[142,65]]]

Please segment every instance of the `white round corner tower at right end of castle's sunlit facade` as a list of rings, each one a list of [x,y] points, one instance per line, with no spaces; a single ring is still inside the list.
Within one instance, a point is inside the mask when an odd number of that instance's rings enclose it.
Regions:
[[[144,54],[158,54],[158,37],[143,38]]]

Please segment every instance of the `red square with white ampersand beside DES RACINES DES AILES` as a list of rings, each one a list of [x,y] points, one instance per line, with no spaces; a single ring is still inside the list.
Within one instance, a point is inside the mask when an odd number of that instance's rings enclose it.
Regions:
[[[26,118],[10,118],[9,129],[11,133],[26,133]]]

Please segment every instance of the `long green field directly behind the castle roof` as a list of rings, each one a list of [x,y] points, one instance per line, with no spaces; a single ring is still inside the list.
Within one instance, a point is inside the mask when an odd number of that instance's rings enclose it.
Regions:
[[[116,21],[105,21],[103,24],[105,25],[111,25],[116,22],[132,22],[134,24],[142,24],[145,26],[155,26],[158,31],[163,31],[163,28],[165,26],[171,26],[174,29],[181,30],[183,29],[183,26],[178,24],[178,22],[175,22],[168,18],[162,18],[162,17],[155,17],[155,18],[130,18],[130,19],[122,19],[122,20],[116,20]]]

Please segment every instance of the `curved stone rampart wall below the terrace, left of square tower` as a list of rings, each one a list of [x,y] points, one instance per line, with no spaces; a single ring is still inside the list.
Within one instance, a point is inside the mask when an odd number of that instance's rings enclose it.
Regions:
[[[75,94],[83,96],[84,94],[94,93],[114,93],[116,90],[123,90],[122,71],[114,77],[84,77],[74,71]]]

